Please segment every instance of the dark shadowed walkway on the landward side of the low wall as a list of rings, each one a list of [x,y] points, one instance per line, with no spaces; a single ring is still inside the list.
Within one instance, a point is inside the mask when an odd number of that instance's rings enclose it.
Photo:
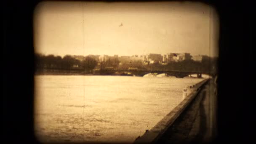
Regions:
[[[159,143],[212,142],[216,137],[216,95],[213,79],[157,141]]]

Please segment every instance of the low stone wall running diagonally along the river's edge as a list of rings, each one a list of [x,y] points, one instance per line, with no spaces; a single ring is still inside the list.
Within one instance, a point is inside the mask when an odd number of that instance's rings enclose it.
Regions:
[[[181,115],[181,113],[186,109],[186,107],[191,103],[193,99],[199,93],[201,87],[208,81],[205,79],[200,83],[195,85],[190,85],[188,89],[187,96],[177,105],[171,112],[169,112],[160,122],[158,122],[151,130],[146,131],[143,136],[139,136],[134,143],[155,143],[157,140],[163,136],[165,131],[173,125],[175,120]]]

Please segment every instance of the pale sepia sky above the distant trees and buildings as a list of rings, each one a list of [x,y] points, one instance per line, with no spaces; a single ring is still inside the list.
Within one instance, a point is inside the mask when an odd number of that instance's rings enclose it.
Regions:
[[[218,39],[217,14],[197,2],[42,2],[34,11],[34,48],[43,54],[218,56]]]

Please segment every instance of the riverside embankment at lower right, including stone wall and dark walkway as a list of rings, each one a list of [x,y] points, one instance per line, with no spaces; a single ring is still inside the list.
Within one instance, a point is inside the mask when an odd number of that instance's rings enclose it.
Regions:
[[[214,80],[200,85],[173,112],[180,113],[163,118],[154,128],[137,138],[134,143],[208,143],[216,136],[216,94]],[[191,98],[189,98],[191,97]],[[189,101],[189,99],[192,99]],[[189,104],[185,104],[189,101]],[[184,103],[184,104],[182,104]],[[184,109],[184,110],[180,110]],[[173,121],[173,122],[172,122]],[[170,124],[171,123],[171,124]]]

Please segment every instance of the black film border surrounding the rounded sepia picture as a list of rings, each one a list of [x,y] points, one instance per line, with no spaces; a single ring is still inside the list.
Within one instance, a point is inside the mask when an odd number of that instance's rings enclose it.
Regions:
[[[4,111],[2,124],[4,139],[2,141],[8,143],[38,143],[33,132],[32,21],[33,10],[39,2],[40,0],[5,1],[3,6],[2,109]],[[248,78],[252,74],[251,69],[248,69],[248,67],[251,68],[251,63],[248,61],[252,60],[252,49],[246,49],[250,46],[252,48],[252,43],[249,43],[252,24],[247,23],[251,18],[251,3],[213,0],[196,0],[195,2],[202,2],[216,8],[220,20],[218,136],[213,142],[250,141],[253,132],[247,131],[249,127],[245,123],[252,122],[252,113],[245,108],[252,108],[252,104],[249,103],[252,95],[249,90],[243,92],[241,90],[242,85],[247,89],[252,86],[249,80],[243,81],[245,83],[242,84],[242,79],[237,75]],[[245,107],[244,103],[248,107]],[[242,121],[244,118],[246,120]]]

